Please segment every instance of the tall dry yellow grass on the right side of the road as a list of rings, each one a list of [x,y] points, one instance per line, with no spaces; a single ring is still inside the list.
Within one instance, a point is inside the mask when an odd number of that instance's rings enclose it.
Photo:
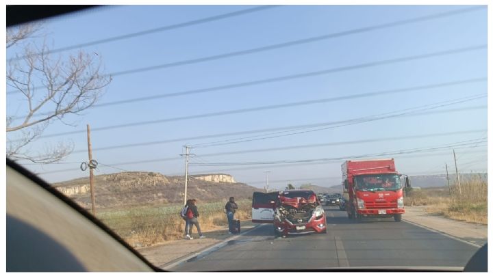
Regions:
[[[406,206],[426,206],[433,215],[443,215],[458,221],[488,224],[488,182],[480,176],[448,187],[412,190],[404,199]]]

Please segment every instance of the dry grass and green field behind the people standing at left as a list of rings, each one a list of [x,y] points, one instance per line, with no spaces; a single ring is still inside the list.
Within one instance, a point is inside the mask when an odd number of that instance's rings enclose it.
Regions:
[[[208,231],[223,230],[227,227],[227,218],[223,213],[226,202],[227,199],[221,202],[197,202],[199,223],[205,236]],[[251,219],[251,199],[238,200],[237,203],[239,209],[235,219]],[[101,210],[97,217],[129,245],[142,247],[183,238],[185,221],[179,217],[181,208],[183,205],[136,206],[119,210]],[[193,233],[197,234],[195,227]]]

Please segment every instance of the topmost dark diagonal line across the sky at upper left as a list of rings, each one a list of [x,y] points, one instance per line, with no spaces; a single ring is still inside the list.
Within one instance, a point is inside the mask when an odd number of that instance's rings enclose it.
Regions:
[[[137,32],[134,32],[134,33],[126,33],[126,34],[121,35],[121,36],[112,36],[110,38],[104,38],[104,39],[101,39],[101,40],[93,40],[91,42],[86,42],[86,43],[80,43],[80,44],[75,44],[75,45],[71,45],[71,46],[66,46],[66,47],[62,47],[62,48],[58,48],[58,49],[53,49],[51,51],[47,51],[45,54],[60,53],[60,52],[68,51],[68,50],[83,48],[83,47],[97,45],[97,44],[104,44],[104,43],[114,42],[114,41],[118,41],[118,40],[125,40],[125,39],[129,39],[129,38],[136,38],[138,36],[146,36],[146,35],[149,35],[151,33],[158,33],[158,32],[162,32],[162,31],[170,31],[172,29],[179,29],[179,28],[183,28],[183,27],[189,27],[189,26],[192,26],[192,25],[200,25],[200,24],[203,24],[203,23],[209,23],[209,22],[216,21],[216,20],[223,20],[225,18],[231,18],[231,17],[235,17],[235,16],[241,16],[241,15],[244,15],[244,14],[251,14],[253,12],[260,12],[262,10],[268,10],[268,9],[276,8],[276,7],[279,7],[279,5],[262,5],[260,7],[249,8],[249,9],[245,9],[245,10],[239,10],[239,11],[236,11],[236,12],[228,12],[226,14],[219,14],[219,15],[216,15],[216,16],[209,16],[209,17],[205,17],[205,18],[201,18],[201,19],[190,20],[190,21],[187,21],[187,22],[184,22],[184,23],[177,23],[177,24],[173,24],[173,25],[167,25],[167,26],[157,27],[157,28],[153,28],[153,29],[147,29],[147,30],[144,30],[144,31],[137,31]],[[457,10],[457,12],[459,14],[464,13],[464,12],[472,12],[472,11],[473,10]],[[32,54],[32,55],[23,55],[21,57],[13,57],[11,59],[8,59],[8,61],[23,59],[25,57],[38,56],[40,54],[41,53],[35,53],[35,54]]]

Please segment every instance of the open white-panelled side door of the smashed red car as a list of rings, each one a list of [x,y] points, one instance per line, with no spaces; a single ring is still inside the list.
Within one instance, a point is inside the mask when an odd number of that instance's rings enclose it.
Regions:
[[[275,205],[270,202],[279,200],[279,192],[260,193],[253,192],[252,197],[252,222],[273,223]]]

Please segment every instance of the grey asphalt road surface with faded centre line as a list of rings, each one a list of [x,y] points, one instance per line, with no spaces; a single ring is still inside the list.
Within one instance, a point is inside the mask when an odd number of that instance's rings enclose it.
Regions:
[[[356,223],[325,208],[327,234],[274,238],[265,224],[173,271],[238,271],[361,266],[465,266],[478,250],[459,240],[394,219]],[[404,217],[405,218],[405,217]]]

